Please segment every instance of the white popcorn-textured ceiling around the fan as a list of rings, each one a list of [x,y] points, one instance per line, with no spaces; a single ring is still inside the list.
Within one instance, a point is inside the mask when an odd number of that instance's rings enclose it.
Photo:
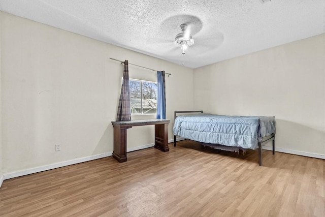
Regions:
[[[189,68],[325,33],[325,0],[0,0],[0,10]],[[194,39],[184,55],[182,23]]]

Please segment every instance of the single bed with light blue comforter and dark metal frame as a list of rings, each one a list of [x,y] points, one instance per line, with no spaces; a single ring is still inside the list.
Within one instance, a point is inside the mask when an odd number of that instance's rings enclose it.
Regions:
[[[263,143],[272,140],[272,152],[275,153],[274,117],[175,111],[173,133],[174,146],[176,146],[176,136],[180,136],[221,150],[239,152],[239,150],[258,149],[259,166],[262,166]]]

